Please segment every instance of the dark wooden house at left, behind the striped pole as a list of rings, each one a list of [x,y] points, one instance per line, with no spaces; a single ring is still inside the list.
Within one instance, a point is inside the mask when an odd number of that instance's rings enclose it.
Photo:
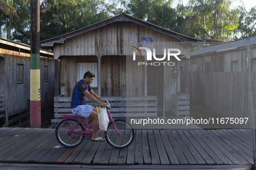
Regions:
[[[40,50],[41,106],[53,101],[53,53]],[[0,38],[0,117],[28,110],[30,99],[30,46]]]

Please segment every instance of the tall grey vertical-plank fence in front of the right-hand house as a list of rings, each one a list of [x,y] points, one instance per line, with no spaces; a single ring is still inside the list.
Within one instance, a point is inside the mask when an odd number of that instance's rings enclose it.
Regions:
[[[189,94],[191,103],[195,99],[196,78],[202,81],[204,102],[214,117],[249,117],[248,72],[189,72]],[[252,72],[253,93],[256,93],[256,72]],[[248,126],[247,128],[250,128]]]

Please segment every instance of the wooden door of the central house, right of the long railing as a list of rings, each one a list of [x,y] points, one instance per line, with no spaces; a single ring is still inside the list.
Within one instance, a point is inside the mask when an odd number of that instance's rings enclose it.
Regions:
[[[147,95],[157,96],[159,116],[163,111],[163,66],[147,66]]]

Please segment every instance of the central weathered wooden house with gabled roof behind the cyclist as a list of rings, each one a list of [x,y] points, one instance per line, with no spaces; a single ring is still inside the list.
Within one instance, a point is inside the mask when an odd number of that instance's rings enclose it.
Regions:
[[[171,113],[172,94],[177,95],[180,92],[180,76],[173,78],[173,70],[179,71],[179,67],[165,66],[164,69],[164,66],[138,66],[138,61],[145,62],[146,58],[137,56],[134,61],[134,50],[131,47],[139,47],[142,38],[154,39],[158,56],[163,55],[164,47],[180,49],[181,54],[178,57],[187,58],[190,53],[189,46],[202,42],[124,13],[41,41],[41,46],[50,47],[54,51],[55,97],[59,95],[57,75],[60,60],[60,91],[63,97],[71,97],[76,82],[83,79],[86,71],[91,70],[96,74],[91,86],[99,96],[157,96],[157,111],[162,112],[163,98],[160,96],[165,93],[165,111]],[[179,65],[179,61],[173,56],[170,61]],[[154,76],[151,73],[155,73]]]

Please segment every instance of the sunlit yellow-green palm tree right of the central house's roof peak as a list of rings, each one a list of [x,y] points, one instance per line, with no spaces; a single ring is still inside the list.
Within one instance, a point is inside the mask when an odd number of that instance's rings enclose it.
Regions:
[[[181,32],[195,38],[229,41],[238,26],[239,10],[231,0],[190,0]]]

